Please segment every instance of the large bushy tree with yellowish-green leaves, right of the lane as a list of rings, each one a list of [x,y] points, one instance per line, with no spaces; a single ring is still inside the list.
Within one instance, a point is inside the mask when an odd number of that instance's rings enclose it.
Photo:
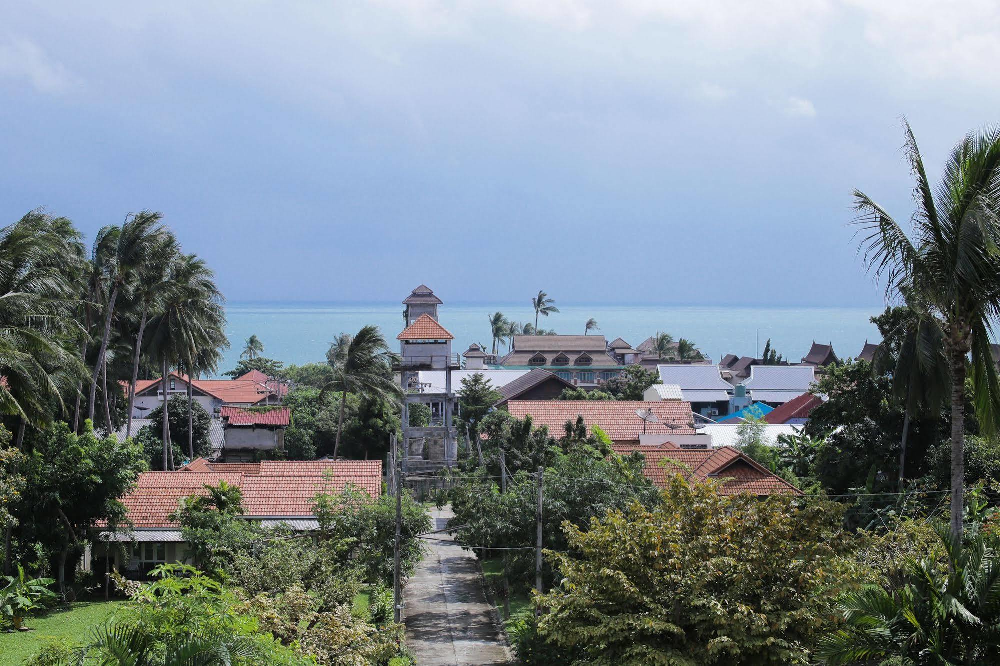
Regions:
[[[600,664],[807,664],[827,624],[839,511],[668,482],[662,503],[564,526],[539,632]]]

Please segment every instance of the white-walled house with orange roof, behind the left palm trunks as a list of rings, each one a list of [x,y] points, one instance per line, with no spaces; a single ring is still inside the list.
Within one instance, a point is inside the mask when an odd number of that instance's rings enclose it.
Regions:
[[[171,372],[167,375],[167,396],[170,398],[177,395],[186,396],[189,383],[194,401],[213,416],[218,415],[223,405],[236,407],[274,405],[288,393],[286,384],[268,377],[259,370],[251,370],[236,379],[190,379],[183,373]],[[127,393],[128,382],[121,384]],[[162,379],[140,379],[135,383],[133,418],[142,418],[162,404]]]

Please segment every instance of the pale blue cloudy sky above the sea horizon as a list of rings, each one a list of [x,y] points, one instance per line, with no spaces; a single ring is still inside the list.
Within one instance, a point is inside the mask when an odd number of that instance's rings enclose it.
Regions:
[[[1000,3],[47,2],[0,10],[0,221],[157,210],[229,300],[866,305],[1000,121]]]

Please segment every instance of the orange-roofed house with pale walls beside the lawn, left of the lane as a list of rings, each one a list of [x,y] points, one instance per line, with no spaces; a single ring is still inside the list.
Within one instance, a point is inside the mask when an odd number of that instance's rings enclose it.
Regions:
[[[176,472],[145,472],[139,475],[135,488],[121,498],[127,526],[117,531],[99,528],[92,550],[84,557],[84,568],[98,572],[117,568],[142,575],[159,564],[190,563],[181,528],[169,516],[182,499],[206,495],[205,486],[217,486],[220,481],[240,489],[245,510],[240,519],[310,531],[316,529],[316,495],[352,486],[378,497],[382,463],[209,463],[198,458]]]

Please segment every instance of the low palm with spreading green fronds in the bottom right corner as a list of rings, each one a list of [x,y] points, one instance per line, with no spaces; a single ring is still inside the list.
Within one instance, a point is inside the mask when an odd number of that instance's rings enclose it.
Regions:
[[[995,663],[1000,650],[997,543],[977,533],[963,546],[961,537],[943,526],[935,531],[948,569],[931,556],[911,557],[902,585],[848,594],[839,604],[845,627],[820,641],[821,663],[875,664],[893,657],[928,666]]]

